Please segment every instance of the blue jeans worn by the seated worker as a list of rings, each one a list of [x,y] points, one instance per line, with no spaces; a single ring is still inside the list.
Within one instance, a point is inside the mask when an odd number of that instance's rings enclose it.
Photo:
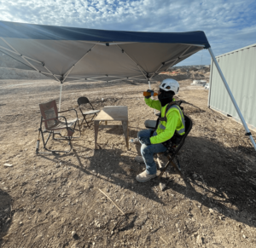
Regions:
[[[166,147],[162,144],[151,144],[149,137],[153,130],[141,130],[137,133],[137,137],[142,144],[141,153],[146,164],[146,171],[149,175],[156,174],[156,164],[154,162],[154,153],[164,153],[166,152]],[[153,136],[156,136],[156,131],[154,131]]]

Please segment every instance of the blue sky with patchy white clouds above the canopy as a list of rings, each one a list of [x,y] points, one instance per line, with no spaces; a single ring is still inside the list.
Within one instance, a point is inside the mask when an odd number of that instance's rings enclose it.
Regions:
[[[203,31],[214,55],[256,43],[256,0],[0,0],[0,20],[137,32]],[[177,66],[209,65],[206,49]]]

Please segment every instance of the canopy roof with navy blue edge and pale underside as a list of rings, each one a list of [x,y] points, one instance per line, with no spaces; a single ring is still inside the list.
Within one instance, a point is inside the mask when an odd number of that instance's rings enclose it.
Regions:
[[[60,82],[152,78],[209,47],[200,31],[123,32],[0,21],[0,52]]]

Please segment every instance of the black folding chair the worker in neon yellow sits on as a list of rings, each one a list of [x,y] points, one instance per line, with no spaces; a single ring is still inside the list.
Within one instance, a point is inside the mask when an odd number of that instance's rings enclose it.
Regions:
[[[183,174],[181,173],[181,168],[180,168],[180,164],[179,161],[177,159],[177,153],[179,152],[179,150],[183,147],[183,144],[185,142],[186,137],[189,135],[190,130],[192,129],[192,120],[184,115],[184,120],[185,120],[185,134],[182,136],[181,141],[177,144],[177,145],[173,145],[171,147],[168,147],[167,152],[164,153],[166,154],[166,157],[169,159],[168,162],[166,163],[166,165],[164,167],[160,167],[160,175],[158,176],[159,178],[164,174],[164,172],[166,171],[167,167],[169,166],[169,164],[172,164],[172,166],[177,170],[177,173],[180,176],[183,176]],[[177,161],[177,164],[173,162],[173,160]],[[159,165],[160,165],[160,161],[158,159]]]

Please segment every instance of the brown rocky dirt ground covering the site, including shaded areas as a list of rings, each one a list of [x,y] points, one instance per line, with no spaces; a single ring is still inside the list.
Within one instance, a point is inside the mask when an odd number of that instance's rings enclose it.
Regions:
[[[256,153],[241,124],[207,108],[206,89],[190,86],[184,74],[173,78],[193,129],[179,155],[185,181],[170,168],[164,191],[157,178],[136,181],[144,170],[134,161],[139,146],[127,150],[121,128],[100,130],[95,150],[90,123],[71,153],[36,155],[38,104],[58,102],[60,85],[1,80],[0,246],[256,247]],[[146,89],[136,81],[65,83],[61,110],[77,107],[79,96],[96,109],[127,106],[134,138],[146,119],[156,119],[143,101]],[[68,144],[50,140],[49,147]]]

